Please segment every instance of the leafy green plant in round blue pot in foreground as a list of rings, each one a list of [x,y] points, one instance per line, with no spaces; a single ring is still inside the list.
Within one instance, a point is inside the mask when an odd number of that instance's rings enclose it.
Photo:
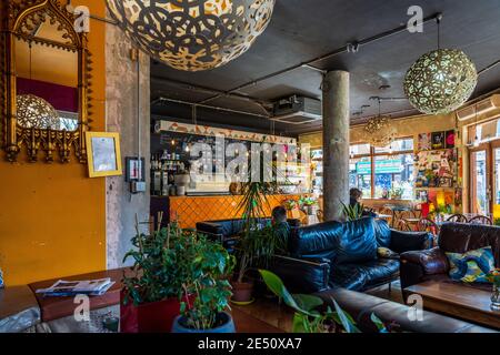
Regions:
[[[194,256],[188,261],[189,277],[182,283],[181,314],[173,322],[172,333],[234,333],[231,315],[224,312],[232,294],[228,278],[234,266],[233,257],[206,236],[198,236],[193,250]],[[189,297],[191,293],[193,301]]]

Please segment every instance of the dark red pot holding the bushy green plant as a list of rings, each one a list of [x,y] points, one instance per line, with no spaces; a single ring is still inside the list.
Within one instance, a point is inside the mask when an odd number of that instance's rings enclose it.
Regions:
[[[132,300],[123,304],[123,292],[120,297],[121,333],[170,333],[174,318],[180,314],[178,298],[144,303],[134,306]],[[194,296],[189,296],[189,303]]]

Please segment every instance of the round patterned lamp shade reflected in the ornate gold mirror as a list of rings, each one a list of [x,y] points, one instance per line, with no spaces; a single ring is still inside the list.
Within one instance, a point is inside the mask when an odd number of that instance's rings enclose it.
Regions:
[[[18,124],[27,129],[59,130],[60,119],[56,109],[33,94],[16,97]]]

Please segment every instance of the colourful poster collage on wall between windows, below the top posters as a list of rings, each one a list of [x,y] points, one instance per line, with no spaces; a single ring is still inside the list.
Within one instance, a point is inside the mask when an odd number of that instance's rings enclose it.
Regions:
[[[417,187],[452,187],[457,150],[422,151],[417,154]]]

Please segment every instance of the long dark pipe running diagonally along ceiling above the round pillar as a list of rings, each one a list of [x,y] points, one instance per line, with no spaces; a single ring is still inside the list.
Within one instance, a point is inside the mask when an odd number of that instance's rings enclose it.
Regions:
[[[436,14],[433,14],[433,16],[431,16],[431,17],[424,18],[422,22],[423,22],[423,23],[427,23],[427,22],[430,22],[430,21],[437,21],[439,18],[442,18],[442,13],[436,13]],[[389,31],[379,33],[379,34],[377,34],[377,36],[369,37],[369,38],[363,39],[363,40],[360,40],[360,41],[357,41],[356,43],[357,43],[357,45],[358,45],[358,48],[359,48],[359,47],[361,47],[361,45],[366,45],[366,44],[369,44],[369,43],[372,43],[372,42],[376,42],[376,41],[386,39],[386,38],[388,38],[388,37],[391,37],[391,36],[398,34],[398,33],[401,33],[401,32],[403,32],[403,31],[407,31],[407,29],[408,29],[408,28],[407,28],[406,24],[404,24],[404,26],[400,26],[400,27],[398,27],[398,28],[396,28],[396,29],[392,29],[392,30],[389,30]],[[232,93],[232,92],[236,92],[236,91],[240,91],[240,90],[246,89],[246,88],[248,88],[248,87],[250,87],[250,85],[256,85],[256,84],[258,84],[259,82],[266,81],[266,80],[268,80],[268,79],[271,79],[271,78],[274,78],[274,77],[278,77],[278,75],[286,74],[286,73],[291,72],[291,71],[294,71],[294,70],[297,70],[297,69],[299,69],[299,68],[309,68],[309,69],[317,70],[317,71],[323,71],[322,69],[320,69],[320,68],[313,65],[313,63],[317,63],[317,62],[320,62],[320,61],[330,59],[330,58],[332,58],[332,57],[336,57],[336,55],[339,55],[339,54],[342,54],[342,53],[348,53],[348,51],[349,51],[348,45],[344,45],[344,47],[339,48],[339,49],[336,49],[336,50],[333,50],[333,51],[331,51],[331,52],[329,52],[329,53],[326,53],[326,54],[323,54],[323,55],[313,58],[313,59],[311,59],[311,60],[309,60],[309,61],[306,61],[306,62],[302,62],[302,63],[299,63],[299,64],[294,64],[294,65],[292,65],[292,67],[289,67],[289,68],[279,70],[279,71],[277,71],[277,72],[267,74],[267,75],[261,77],[261,78],[259,78],[259,79],[256,79],[256,80],[253,80],[253,81],[250,81],[250,82],[247,82],[247,83],[244,83],[244,84],[241,84],[241,85],[239,85],[239,87],[237,87],[237,88],[233,88],[233,89],[231,89],[231,90],[229,90],[229,91],[226,91],[224,94]],[[204,99],[204,100],[200,101],[199,103],[207,103],[207,102],[209,102],[209,101],[219,99],[221,95],[222,95],[222,94],[217,94],[217,95],[214,95],[214,97]]]

